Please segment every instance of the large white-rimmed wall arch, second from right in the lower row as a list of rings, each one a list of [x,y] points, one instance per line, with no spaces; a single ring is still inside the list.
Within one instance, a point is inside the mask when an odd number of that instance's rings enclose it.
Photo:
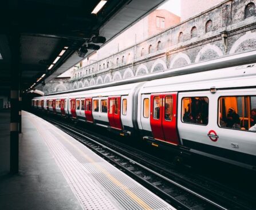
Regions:
[[[217,58],[220,56],[223,56],[222,50],[220,50],[218,46],[208,43],[198,52],[195,58],[195,63],[204,60],[211,60],[212,58]]]

